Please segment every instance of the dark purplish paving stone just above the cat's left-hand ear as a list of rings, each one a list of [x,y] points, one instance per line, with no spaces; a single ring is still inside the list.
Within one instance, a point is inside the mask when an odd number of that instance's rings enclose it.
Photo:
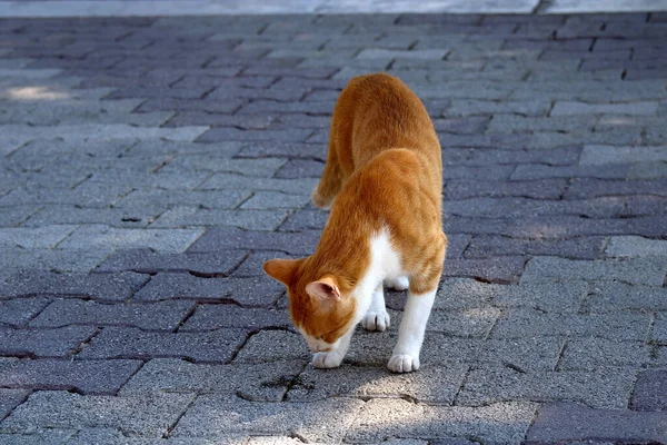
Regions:
[[[216,227],[207,230],[188,253],[207,253],[225,249],[281,250],[293,255],[312,254],[321,230],[301,233],[269,233]]]

